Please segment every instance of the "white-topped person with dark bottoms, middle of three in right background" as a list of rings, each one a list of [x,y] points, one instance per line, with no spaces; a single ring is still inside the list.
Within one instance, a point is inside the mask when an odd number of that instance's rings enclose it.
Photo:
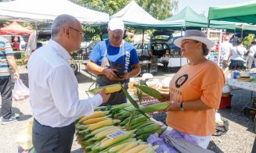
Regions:
[[[243,47],[243,41],[237,41],[235,47],[233,47],[229,53],[229,60],[231,61],[229,64],[229,69],[231,70],[240,70],[246,68],[246,61],[243,59],[243,55],[247,53],[247,49]]]

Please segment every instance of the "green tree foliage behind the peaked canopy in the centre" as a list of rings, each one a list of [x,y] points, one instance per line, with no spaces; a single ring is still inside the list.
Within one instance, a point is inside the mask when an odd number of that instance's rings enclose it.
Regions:
[[[125,5],[128,5],[131,0],[70,0],[85,8],[93,9],[100,12],[106,12],[113,15],[120,11]],[[146,12],[157,20],[164,20],[171,16],[171,10],[178,10],[178,0],[136,0]],[[99,40],[100,32],[106,27],[85,27],[86,37],[85,41]],[[136,30],[130,28],[131,32],[136,33]],[[141,32],[141,30],[138,30]]]

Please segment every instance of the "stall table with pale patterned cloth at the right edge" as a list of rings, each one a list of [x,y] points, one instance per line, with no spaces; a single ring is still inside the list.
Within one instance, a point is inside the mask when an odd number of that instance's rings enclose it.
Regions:
[[[251,91],[250,101],[247,102],[247,104],[243,107],[243,109],[248,108],[248,109],[256,110],[255,108],[249,106],[252,103],[253,98],[256,98],[256,97],[253,97],[253,93],[256,92],[256,83],[240,81],[232,78],[226,78],[225,81],[226,81],[226,84],[229,85],[229,87],[231,87],[231,89],[233,90],[244,89],[247,91]],[[243,109],[241,109],[241,111],[243,111]]]

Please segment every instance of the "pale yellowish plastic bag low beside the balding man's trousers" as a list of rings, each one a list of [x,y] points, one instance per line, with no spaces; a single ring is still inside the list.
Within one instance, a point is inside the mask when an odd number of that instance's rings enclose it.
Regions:
[[[16,137],[16,143],[24,150],[30,150],[33,148],[32,126],[33,121],[30,121],[23,127],[23,130],[19,133],[18,137]]]

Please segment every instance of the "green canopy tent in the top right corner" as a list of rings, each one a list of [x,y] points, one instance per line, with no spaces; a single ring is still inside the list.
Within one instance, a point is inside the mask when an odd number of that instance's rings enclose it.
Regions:
[[[256,1],[210,7],[208,20],[256,24]]]

